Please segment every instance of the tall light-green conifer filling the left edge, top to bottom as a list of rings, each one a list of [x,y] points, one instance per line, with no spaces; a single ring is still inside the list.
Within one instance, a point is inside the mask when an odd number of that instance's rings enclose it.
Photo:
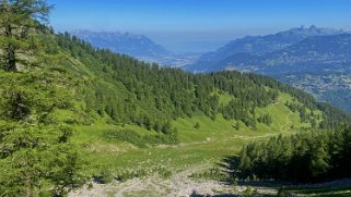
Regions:
[[[50,10],[43,0],[0,1],[0,196],[66,195],[85,181],[73,131],[49,114],[70,109],[72,93],[58,87],[46,70],[16,72],[34,65]],[[68,82],[67,78],[63,82]]]

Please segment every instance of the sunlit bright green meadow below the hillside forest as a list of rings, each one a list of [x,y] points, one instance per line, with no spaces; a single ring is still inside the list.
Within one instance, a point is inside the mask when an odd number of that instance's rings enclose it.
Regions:
[[[208,168],[221,162],[224,157],[232,156],[253,140],[264,140],[268,137],[283,134],[291,135],[301,127],[308,127],[301,123],[297,112],[291,112],[283,103],[292,97],[281,94],[281,102],[259,109],[260,113],[273,116],[271,126],[258,124],[256,131],[241,123],[241,128],[233,127],[233,121],[218,115],[215,121],[203,115],[180,118],[173,122],[178,130],[179,145],[138,148],[122,141],[104,138],[106,130],[121,130],[121,126],[108,125],[106,120],[100,120],[94,125],[78,126],[77,143],[86,144],[87,158],[92,163],[90,173],[98,174],[101,169],[110,169],[116,176],[126,172],[143,174],[157,173],[160,169],[176,172],[191,165],[207,165]],[[195,128],[199,123],[200,127]],[[294,125],[294,127],[292,127]],[[125,125],[138,133],[150,133],[145,128]],[[151,132],[155,133],[155,132]],[[141,172],[140,172],[141,171]]]

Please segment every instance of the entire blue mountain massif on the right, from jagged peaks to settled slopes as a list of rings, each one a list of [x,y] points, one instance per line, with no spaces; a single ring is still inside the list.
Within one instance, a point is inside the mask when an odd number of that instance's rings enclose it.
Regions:
[[[270,75],[351,112],[350,65],[351,34],[311,26],[236,39],[187,69]]]

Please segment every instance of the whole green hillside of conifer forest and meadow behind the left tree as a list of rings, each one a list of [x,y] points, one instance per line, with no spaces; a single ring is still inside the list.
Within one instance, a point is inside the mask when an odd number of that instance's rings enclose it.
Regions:
[[[161,69],[96,50],[69,35],[51,37],[52,61],[43,73],[69,82],[57,85],[72,93],[72,104],[47,116],[75,128],[71,140],[86,150],[89,175],[105,169],[118,175],[128,170],[148,174],[212,165],[248,141],[308,130],[312,120],[330,127],[349,119],[268,77]],[[286,103],[314,113],[303,121],[302,112]],[[271,124],[259,123],[261,115],[269,115]],[[132,139],[108,138],[107,131],[132,132],[145,140],[145,147],[136,146]]]

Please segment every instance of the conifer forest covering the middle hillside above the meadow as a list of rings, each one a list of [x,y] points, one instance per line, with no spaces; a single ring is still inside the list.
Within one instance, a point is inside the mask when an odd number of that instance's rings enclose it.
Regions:
[[[132,123],[165,133],[168,127],[165,125],[177,118],[202,114],[214,120],[222,114],[255,128],[257,121],[271,123],[269,116],[257,118],[256,110],[278,102],[279,93],[292,95],[309,111],[332,110],[324,113],[328,121],[320,124],[323,127],[332,128],[339,122],[350,120],[343,112],[320,104],[311,95],[270,77],[235,71],[192,74],[160,67],[94,48],[68,33],[57,35],[56,42],[96,76],[84,82],[87,88],[82,95],[86,110],[107,115],[115,123]],[[221,104],[221,94],[230,95],[232,100]]]

